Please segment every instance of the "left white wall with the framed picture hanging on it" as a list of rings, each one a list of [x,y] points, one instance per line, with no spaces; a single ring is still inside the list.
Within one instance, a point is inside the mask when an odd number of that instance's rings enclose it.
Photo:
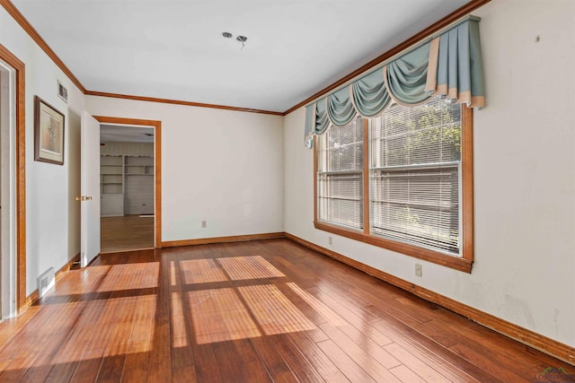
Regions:
[[[26,294],[49,267],[59,269],[80,251],[80,114],[84,94],[0,7],[0,44],[25,65],[26,113]],[[57,81],[68,104],[57,97]],[[34,161],[34,95],[65,115],[64,166]]]

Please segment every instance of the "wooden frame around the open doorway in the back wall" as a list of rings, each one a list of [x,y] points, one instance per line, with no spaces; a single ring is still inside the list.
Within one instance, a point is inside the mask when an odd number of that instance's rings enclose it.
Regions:
[[[154,127],[154,247],[162,248],[162,121],[137,118],[115,118],[94,116],[101,124],[119,124],[130,126]]]

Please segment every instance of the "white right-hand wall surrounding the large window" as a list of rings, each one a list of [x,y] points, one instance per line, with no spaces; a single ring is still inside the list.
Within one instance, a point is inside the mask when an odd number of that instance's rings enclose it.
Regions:
[[[488,105],[474,113],[472,274],[315,230],[304,109],[285,118],[285,230],[575,346],[575,3],[494,1],[473,14]]]

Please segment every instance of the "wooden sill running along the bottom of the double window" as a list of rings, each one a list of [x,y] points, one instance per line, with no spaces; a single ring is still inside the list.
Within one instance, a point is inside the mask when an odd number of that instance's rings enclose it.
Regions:
[[[355,239],[367,243],[369,245],[377,246],[379,248],[386,248],[388,250],[402,253],[406,256],[423,259],[425,261],[434,264],[443,265],[446,267],[462,271],[464,273],[471,274],[473,261],[466,259],[464,257],[448,256],[447,254],[429,250],[428,248],[418,248],[417,246],[396,242],[394,240],[374,237],[372,235],[363,232],[349,231],[339,226],[335,226],[325,222],[316,221],[314,222],[314,227],[315,229],[321,231],[328,231],[333,234],[341,235],[341,237]]]

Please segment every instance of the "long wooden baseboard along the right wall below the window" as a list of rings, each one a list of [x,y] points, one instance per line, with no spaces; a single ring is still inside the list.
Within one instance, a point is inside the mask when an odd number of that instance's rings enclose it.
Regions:
[[[526,344],[535,348],[536,350],[547,353],[555,358],[575,365],[574,347],[571,347],[567,344],[562,344],[544,335],[540,335],[531,330],[527,330],[521,326],[514,325],[513,323],[510,323],[501,318],[497,318],[479,309],[474,309],[471,306],[467,306],[464,303],[458,302],[457,300],[447,298],[446,296],[438,294],[437,292],[432,292],[429,289],[418,286],[417,284],[404,281],[403,279],[398,278],[392,274],[387,274],[381,270],[376,269],[375,267],[365,265],[355,259],[345,257],[328,248],[322,248],[321,246],[318,246],[305,239],[296,237],[295,235],[286,233],[285,237],[287,239],[293,240],[296,243],[299,243],[300,245],[305,246],[305,248],[311,248],[312,250],[317,251],[324,256],[332,257],[333,259],[340,261],[343,264],[354,267],[366,274],[375,276],[376,278],[381,279],[386,283],[393,284],[394,286],[397,286],[407,292],[411,292],[412,294],[417,295],[424,300],[429,300],[430,302],[436,303],[439,306],[450,309],[457,314],[463,315],[465,318],[469,318],[482,326],[491,328],[491,330],[497,331],[502,335],[509,336],[509,338],[517,340],[517,342]]]

